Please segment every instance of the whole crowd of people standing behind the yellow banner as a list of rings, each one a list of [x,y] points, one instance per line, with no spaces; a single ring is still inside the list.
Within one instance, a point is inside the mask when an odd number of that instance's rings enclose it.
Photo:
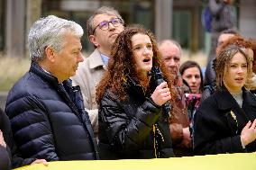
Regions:
[[[50,161],[256,151],[256,41],[220,33],[204,79],[176,40],[124,25],[112,7],[82,27],[54,15],[28,35],[29,71],[0,114],[0,169]]]

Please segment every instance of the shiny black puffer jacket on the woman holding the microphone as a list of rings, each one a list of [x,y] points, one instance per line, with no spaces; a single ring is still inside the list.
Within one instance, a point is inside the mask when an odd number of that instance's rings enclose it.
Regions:
[[[142,86],[133,79],[128,78],[125,86],[125,101],[107,90],[100,103],[100,158],[153,158],[156,154],[157,157],[173,157],[169,122],[164,120],[162,108],[146,97]]]

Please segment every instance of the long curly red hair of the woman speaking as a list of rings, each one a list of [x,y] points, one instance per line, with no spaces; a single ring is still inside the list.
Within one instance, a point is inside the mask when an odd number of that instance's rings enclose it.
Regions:
[[[151,31],[146,31],[142,26],[133,25],[126,27],[124,31],[118,35],[114,42],[107,71],[96,87],[96,102],[98,104],[100,103],[105,90],[108,88],[113,92],[117,91],[119,99],[124,100],[126,92],[123,85],[125,83],[126,76],[130,76],[137,81],[139,80],[136,67],[134,67],[135,63],[132,49],[132,37],[137,33],[148,35],[151,39],[153,50],[153,67],[160,67],[162,74],[169,85],[172,101],[174,100],[176,95],[172,85],[173,77],[169,74],[167,67],[165,67],[164,62],[161,59],[155,37]]]

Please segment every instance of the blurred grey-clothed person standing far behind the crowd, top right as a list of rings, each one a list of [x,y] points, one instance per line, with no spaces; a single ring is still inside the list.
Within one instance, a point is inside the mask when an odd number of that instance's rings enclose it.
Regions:
[[[208,6],[212,14],[211,21],[211,49],[208,61],[215,58],[217,40],[221,31],[236,28],[236,16],[233,8],[233,0],[208,0]]]

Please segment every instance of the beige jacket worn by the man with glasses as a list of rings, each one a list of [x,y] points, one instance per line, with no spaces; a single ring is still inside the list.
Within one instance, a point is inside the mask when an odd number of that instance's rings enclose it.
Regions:
[[[105,73],[106,67],[97,49],[82,63],[79,63],[76,76],[71,77],[73,85],[79,85],[83,94],[85,109],[89,114],[94,132],[98,133],[98,110],[96,85]]]

